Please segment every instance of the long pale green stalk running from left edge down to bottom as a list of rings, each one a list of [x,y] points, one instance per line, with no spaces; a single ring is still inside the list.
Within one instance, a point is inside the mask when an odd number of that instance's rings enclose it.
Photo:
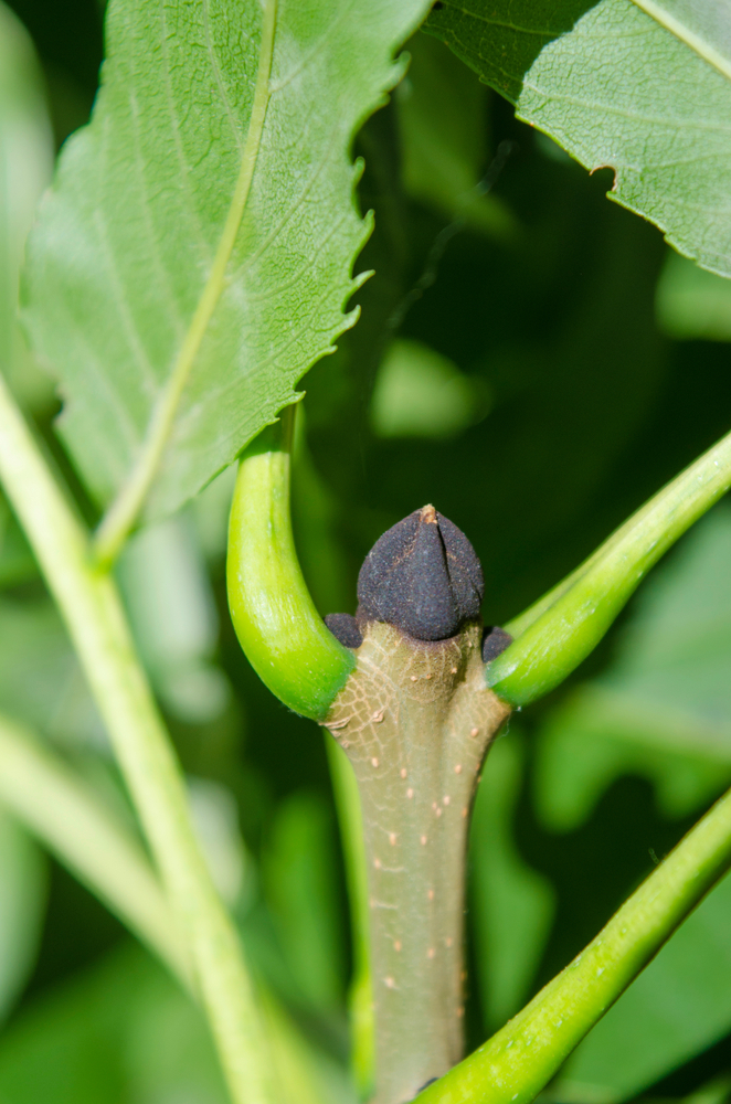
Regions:
[[[237,933],[213,887],[180,766],[109,574],[0,378],[0,477],[66,622],[180,921],[235,1104],[269,1104],[271,1063]]]

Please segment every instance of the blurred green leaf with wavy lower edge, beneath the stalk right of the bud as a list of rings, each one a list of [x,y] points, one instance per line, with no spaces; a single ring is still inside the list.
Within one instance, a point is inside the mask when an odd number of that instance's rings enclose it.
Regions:
[[[607,671],[549,715],[537,798],[552,828],[581,824],[623,774],[650,778],[668,816],[731,779],[730,558],[724,503],[643,588]]]

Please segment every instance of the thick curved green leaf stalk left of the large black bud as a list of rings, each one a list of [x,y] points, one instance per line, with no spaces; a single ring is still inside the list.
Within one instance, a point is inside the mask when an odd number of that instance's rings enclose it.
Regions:
[[[239,466],[226,580],[240,644],[262,681],[296,713],[322,721],[356,666],[319,616],[289,516],[295,407],[259,434]]]

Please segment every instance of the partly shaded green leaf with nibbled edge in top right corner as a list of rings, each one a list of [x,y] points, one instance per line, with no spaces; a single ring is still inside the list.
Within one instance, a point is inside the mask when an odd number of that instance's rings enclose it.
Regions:
[[[613,199],[731,276],[725,6],[637,2],[444,0],[426,29],[587,169],[614,169]]]

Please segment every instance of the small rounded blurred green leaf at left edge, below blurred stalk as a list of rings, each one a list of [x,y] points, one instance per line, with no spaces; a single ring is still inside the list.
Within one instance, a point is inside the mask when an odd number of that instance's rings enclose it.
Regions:
[[[35,965],[45,899],[43,856],[23,829],[0,810],[0,1020]]]

